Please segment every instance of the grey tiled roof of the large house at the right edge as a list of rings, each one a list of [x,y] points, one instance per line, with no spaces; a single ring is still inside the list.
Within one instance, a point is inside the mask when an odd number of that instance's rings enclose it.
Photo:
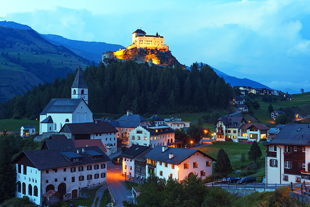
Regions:
[[[299,132],[297,132],[297,130]],[[280,132],[268,143],[270,144],[294,144],[310,146],[310,125],[308,124],[285,124]]]

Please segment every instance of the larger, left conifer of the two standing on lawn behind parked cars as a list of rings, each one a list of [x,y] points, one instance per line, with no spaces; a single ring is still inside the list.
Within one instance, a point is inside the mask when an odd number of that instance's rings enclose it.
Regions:
[[[217,153],[216,162],[214,165],[214,172],[226,176],[232,171],[232,166],[229,157],[224,149],[219,149]]]

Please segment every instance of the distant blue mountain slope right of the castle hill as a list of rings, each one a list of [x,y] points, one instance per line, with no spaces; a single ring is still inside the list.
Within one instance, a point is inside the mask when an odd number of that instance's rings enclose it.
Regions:
[[[205,65],[205,63],[198,63],[199,65],[200,64],[203,64]],[[190,67],[186,66],[188,69]],[[215,69],[214,67],[211,67],[214,72],[216,72],[217,75],[219,75],[220,77],[223,77],[225,79],[225,81],[227,83],[230,83],[231,86],[235,86],[235,85],[239,85],[239,86],[250,86],[250,87],[253,87],[253,88],[269,88],[268,86],[266,85],[263,85],[259,82],[256,82],[254,80],[250,80],[250,79],[247,79],[247,78],[236,78],[234,76],[230,76],[230,75],[227,75],[226,73],[223,73],[222,71],[219,71],[217,69]]]

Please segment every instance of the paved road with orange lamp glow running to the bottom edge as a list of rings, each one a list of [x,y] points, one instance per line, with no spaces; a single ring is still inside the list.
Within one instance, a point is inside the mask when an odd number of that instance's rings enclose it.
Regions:
[[[125,177],[122,176],[122,166],[115,166],[108,162],[107,182],[112,196],[115,200],[115,206],[123,206],[122,201],[132,201],[131,195],[124,186]],[[127,197],[128,196],[128,197]]]

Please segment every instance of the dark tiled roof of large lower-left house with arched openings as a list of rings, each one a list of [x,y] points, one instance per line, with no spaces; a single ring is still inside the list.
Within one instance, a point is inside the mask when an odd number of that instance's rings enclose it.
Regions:
[[[83,157],[80,162],[69,162],[61,152],[72,152],[77,153]],[[28,157],[29,160],[38,170],[47,170],[60,167],[70,167],[77,165],[85,165],[91,163],[105,162],[111,160],[98,146],[85,147],[85,150],[92,149],[103,155],[101,159],[91,159],[86,153],[82,153],[82,147],[77,148],[64,148],[64,149],[41,149],[41,150],[30,150],[21,152],[12,163],[19,163],[22,157]]]

